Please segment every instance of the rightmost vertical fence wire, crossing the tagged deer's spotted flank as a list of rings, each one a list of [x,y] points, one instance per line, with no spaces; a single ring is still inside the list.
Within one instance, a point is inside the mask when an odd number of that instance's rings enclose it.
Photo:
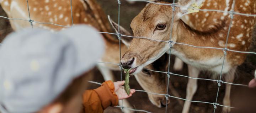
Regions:
[[[223,56],[223,63],[222,63],[222,69],[220,71],[220,78],[219,78],[219,81],[217,82],[218,83],[218,90],[217,90],[217,96],[216,96],[216,100],[215,100],[215,103],[213,103],[213,106],[214,106],[214,111],[213,113],[215,113],[216,109],[217,109],[217,106],[219,105],[217,103],[218,101],[218,96],[219,96],[219,89],[220,89],[220,86],[221,86],[221,82],[222,81],[222,72],[223,72],[223,67],[224,67],[224,63],[225,63],[225,58],[226,58],[226,55],[227,55],[227,47],[228,47],[228,38],[229,38],[229,33],[230,33],[230,29],[231,29],[231,26],[232,26],[232,21],[233,21],[233,18],[234,18],[234,7],[235,7],[235,0],[233,0],[233,3],[232,3],[232,7],[231,7],[231,13],[230,13],[230,24],[229,24],[229,29],[228,29],[228,34],[227,34],[227,37],[226,37],[226,43],[225,43],[225,48],[223,49],[223,52],[224,52],[224,56]]]

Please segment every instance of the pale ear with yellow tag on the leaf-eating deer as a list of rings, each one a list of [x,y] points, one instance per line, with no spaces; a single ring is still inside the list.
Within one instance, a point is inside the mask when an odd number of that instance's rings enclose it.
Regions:
[[[180,0],[177,2],[177,5],[185,6],[185,7],[178,7],[181,12],[177,13],[177,17],[181,18],[183,15],[188,14],[188,8],[192,4],[196,4],[197,6],[200,6],[204,0]]]

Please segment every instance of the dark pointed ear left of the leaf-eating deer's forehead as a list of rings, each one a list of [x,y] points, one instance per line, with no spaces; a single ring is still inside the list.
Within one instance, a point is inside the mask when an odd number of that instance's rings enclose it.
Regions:
[[[114,30],[116,31],[116,33],[118,33],[118,24],[115,23],[111,18],[110,16],[108,15],[108,20],[111,24],[111,26],[114,28]],[[124,29],[122,26],[119,26],[119,33],[122,34],[122,35],[127,35],[127,36],[130,36],[130,32],[128,32],[126,29]],[[121,40],[122,42],[127,46],[129,47],[130,46],[130,42],[132,41],[133,38],[131,37],[124,37],[122,36]]]

